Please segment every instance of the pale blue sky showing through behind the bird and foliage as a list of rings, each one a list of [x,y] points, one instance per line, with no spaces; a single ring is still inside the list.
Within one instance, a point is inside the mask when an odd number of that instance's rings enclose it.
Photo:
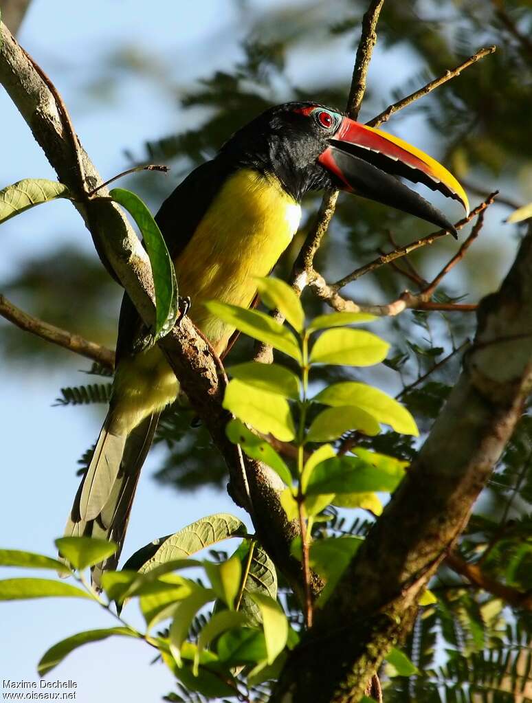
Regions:
[[[183,122],[176,124],[175,110],[165,110],[164,93],[141,77],[126,77],[110,105],[95,107],[86,97],[86,85],[93,72],[98,73],[108,49],[124,39],[134,39],[149,50],[156,46],[157,52],[174,58],[176,77],[190,84],[215,66],[228,67],[240,56],[239,41],[245,27],[235,30],[233,20],[235,4],[230,0],[160,2],[152,4],[148,12],[146,4],[138,0],[33,0],[19,39],[56,82],[84,147],[108,178],[124,168],[124,148],[140,153],[146,138],[186,127],[187,120],[194,118],[193,113],[183,114]],[[303,71],[334,70],[334,77],[349,77],[353,60],[350,41],[339,40],[331,51],[334,60],[325,64],[319,53],[311,58],[307,55]],[[384,89],[406,79],[412,67],[405,58],[398,50],[394,57],[387,55],[394,63],[392,75],[377,51],[370,79],[378,78]],[[0,115],[2,132],[8,135],[2,141],[0,187],[29,176],[54,179],[29,129],[3,92]],[[398,133],[406,136],[413,131],[417,146],[429,148],[430,137],[422,129],[420,117],[401,122]],[[67,202],[54,202],[13,219],[2,226],[1,236],[0,285],[30,254],[55,247],[60,241],[92,250],[89,233]],[[507,257],[500,266],[506,262]],[[86,366],[80,359],[77,368]],[[41,368],[0,366],[2,547],[53,554],[53,539],[63,531],[77,488],[76,461],[96,439],[105,413],[105,408],[100,408],[98,415],[92,408],[52,406],[61,386],[79,382],[75,370],[46,368],[42,373]],[[124,554],[212,512],[233,512],[245,519],[225,494],[202,490],[192,497],[178,496],[163,489],[150,479],[155,465],[156,450],[143,470]],[[140,624],[134,607],[126,608],[124,615]],[[36,664],[47,647],[76,631],[113,624],[91,603],[67,600],[2,603],[0,618],[0,679],[37,680]],[[105,701],[118,697],[157,700],[171,690],[172,679],[162,666],[148,666],[152,658],[153,652],[141,643],[108,640],[74,652],[48,678],[76,681],[81,703],[97,697]]]

